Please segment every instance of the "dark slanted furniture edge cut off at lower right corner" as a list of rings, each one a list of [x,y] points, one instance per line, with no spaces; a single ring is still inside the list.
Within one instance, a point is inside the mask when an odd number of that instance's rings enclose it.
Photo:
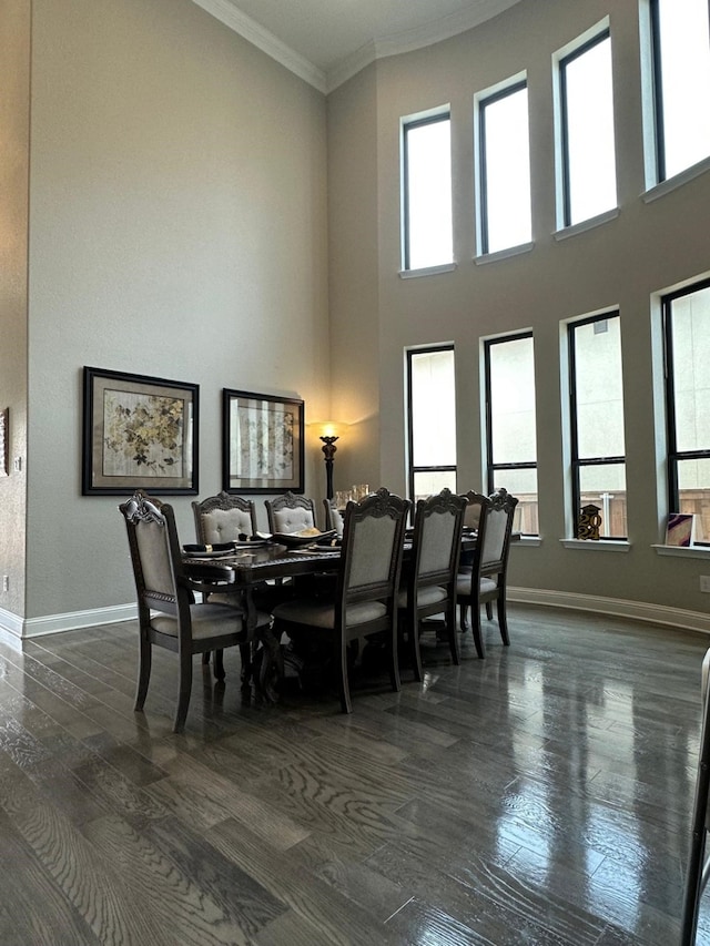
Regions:
[[[686,873],[680,920],[680,946],[694,946],[700,901],[710,877],[710,856],[706,853],[710,831],[710,649],[702,661],[701,724],[696,800],[692,811],[690,856]]]

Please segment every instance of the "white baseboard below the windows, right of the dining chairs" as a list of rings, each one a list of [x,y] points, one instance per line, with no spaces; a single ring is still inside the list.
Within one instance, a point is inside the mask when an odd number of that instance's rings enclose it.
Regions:
[[[710,614],[701,611],[684,611],[665,604],[647,604],[645,601],[626,601],[619,598],[600,598],[596,594],[578,594],[570,591],[550,591],[537,588],[508,587],[508,601],[519,604],[544,604],[547,608],[567,608],[571,611],[594,611],[613,618],[631,618],[649,624],[666,624],[687,631],[710,633]]]

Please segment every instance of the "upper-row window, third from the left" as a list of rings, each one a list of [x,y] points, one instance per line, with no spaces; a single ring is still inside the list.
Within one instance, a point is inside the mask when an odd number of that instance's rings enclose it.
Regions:
[[[611,39],[596,35],[559,60],[564,223],[617,205]]]

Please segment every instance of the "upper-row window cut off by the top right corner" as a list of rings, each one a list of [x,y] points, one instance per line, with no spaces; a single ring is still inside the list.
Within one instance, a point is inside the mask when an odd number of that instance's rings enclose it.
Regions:
[[[710,155],[708,0],[651,0],[658,180]]]

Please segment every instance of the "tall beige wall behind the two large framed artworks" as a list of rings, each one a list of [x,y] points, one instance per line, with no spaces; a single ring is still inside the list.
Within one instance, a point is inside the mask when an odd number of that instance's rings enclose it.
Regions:
[[[223,387],[329,413],[322,94],[190,0],[34,0],[31,114],[29,619],[134,600],[120,500],[81,496],[83,365],[200,385],[201,496]]]

